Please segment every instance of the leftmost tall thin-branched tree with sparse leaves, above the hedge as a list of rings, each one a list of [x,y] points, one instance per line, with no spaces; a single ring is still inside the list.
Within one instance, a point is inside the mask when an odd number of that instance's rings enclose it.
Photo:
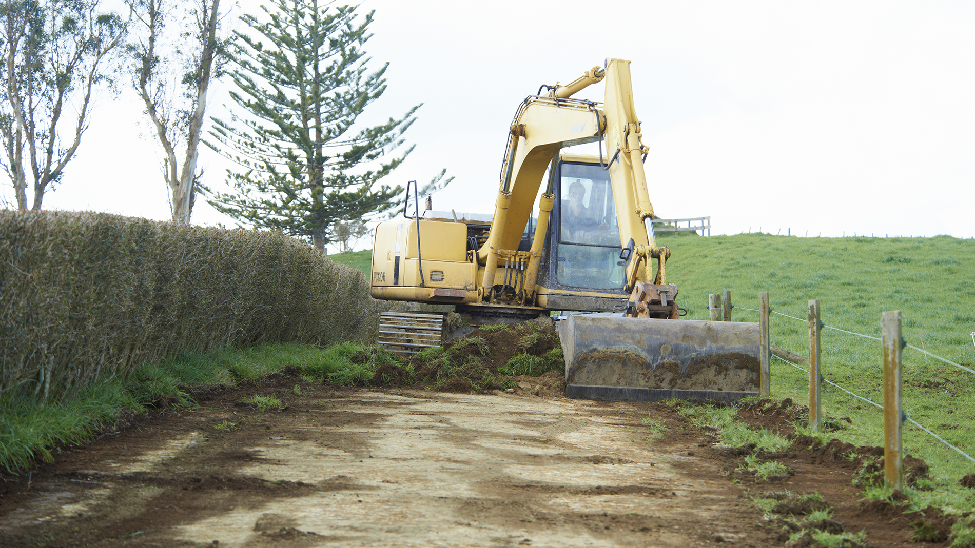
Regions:
[[[93,92],[113,83],[125,30],[125,20],[102,13],[98,0],[0,3],[0,163],[19,209],[40,210],[59,184],[88,128]]]

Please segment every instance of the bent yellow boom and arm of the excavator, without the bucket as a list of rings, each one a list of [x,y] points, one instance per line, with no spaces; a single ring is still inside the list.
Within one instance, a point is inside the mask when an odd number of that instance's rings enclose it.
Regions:
[[[606,82],[604,103],[571,98],[573,93],[603,80]],[[478,250],[479,263],[485,266],[481,285],[485,288],[486,301],[492,297],[490,287],[494,285],[498,261],[510,258],[512,250],[518,249],[545,170],[563,148],[601,141],[606,145],[601,164],[608,169],[616,201],[621,259],[627,262],[627,288],[635,291],[640,286],[643,299],[654,295],[658,301],[655,306],[669,309],[667,317],[676,315],[673,299],[668,303],[665,296],[661,305],[659,290],[643,287],[666,283],[665,263],[670,252],[657,247],[653,238],[653,205],[643,170],[646,148],[641,137],[628,60],[607,59],[603,68],[593,67],[568,85],[549,87],[545,94],[526,98],[509,130],[493,222],[487,241]],[[542,240],[555,198],[552,193],[550,181],[539,202],[538,225],[529,252],[524,284],[529,290],[534,286],[539,268]],[[652,258],[658,259],[656,274],[651,272]],[[665,289],[665,294],[668,290],[673,292],[672,297],[676,295],[676,287]],[[526,302],[530,301],[531,295],[527,295]],[[632,299],[630,308],[632,315],[641,315],[639,305]],[[661,314],[656,311],[651,315]]]

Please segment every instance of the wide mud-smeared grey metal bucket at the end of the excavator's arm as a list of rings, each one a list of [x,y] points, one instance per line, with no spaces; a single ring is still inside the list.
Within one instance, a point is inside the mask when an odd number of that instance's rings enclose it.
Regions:
[[[565,395],[735,401],[759,395],[759,324],[569,315]]]

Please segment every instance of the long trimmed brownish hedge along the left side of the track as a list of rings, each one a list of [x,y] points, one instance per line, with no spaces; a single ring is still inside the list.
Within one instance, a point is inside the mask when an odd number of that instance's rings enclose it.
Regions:
[[[0,211],[0,394],[66,400],[212,347],[371,343],[377,310],[365,274],[280,233]]]

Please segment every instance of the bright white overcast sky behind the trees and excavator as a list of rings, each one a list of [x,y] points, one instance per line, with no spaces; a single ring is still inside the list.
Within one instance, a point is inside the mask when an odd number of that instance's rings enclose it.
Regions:
[[[249,1],[245,9],[259,4]],[[446,167],[456,179],[434,196],[436,209],[492,212],[519,102],[621,57],[633,61],[658,216],[710,215],[713,235],[975,237],[975,4],[364,0],[362,9],[376,11],[367,50],[391,63],[366,118],[424,103],[407,133],[416,150],[388,182]],[[227,101],[216,92],[211,112]],[[45,208],[168,219],[142,120],[134,93],[102,96]],[[201,164],[205,184],[219,187],[228,165],[210,150]],[[193,220],[235,224],[199,203]]]

